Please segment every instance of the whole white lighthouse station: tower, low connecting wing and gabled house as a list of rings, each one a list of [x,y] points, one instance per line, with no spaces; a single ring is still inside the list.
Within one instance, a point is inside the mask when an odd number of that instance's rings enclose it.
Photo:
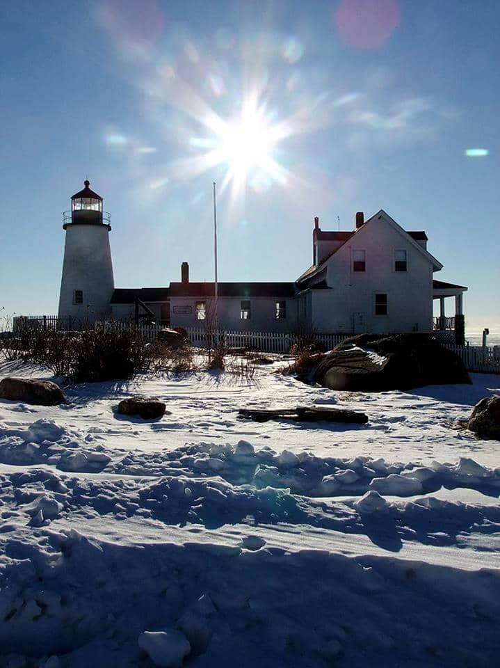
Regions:
[[[102,197],[85,188],[66,212],[59,317],[71,322],[154,319],[170,327],[325,333],[455,331],[464,337],[462,295],[467,287],[433,280],[442,264],[427,250],[423,231],[405,231],[380,209],[357,213],[353,230],[325,232],[314,218],[313,263],[290,283],[193,283],[187,262],[168,287],[115,288],[110,216]],[[454,317],[445,299],[454,298]],[[433,319],[433,300],[440,316]]]

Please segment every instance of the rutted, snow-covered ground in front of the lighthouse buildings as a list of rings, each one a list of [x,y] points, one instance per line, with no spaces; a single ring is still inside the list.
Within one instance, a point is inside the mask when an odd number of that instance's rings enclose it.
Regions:
[[[0,666],[499,665],[500,443],[453,424],[500,376],[377,395],[277,366],[0,400]],[[136,393],[170,413],[115,413]],[[237,417],[309,404],[369,423]]]

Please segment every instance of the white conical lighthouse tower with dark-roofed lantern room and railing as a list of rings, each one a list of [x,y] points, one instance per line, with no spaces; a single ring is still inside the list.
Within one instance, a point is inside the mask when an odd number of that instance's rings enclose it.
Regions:
[[[111,216],[102,210],[102,197],[90,190],[88,181],[84,184],[71,198],[71,211],[63,214],[66,241],[58,315],[69,328],[110,315],[115,288]]]

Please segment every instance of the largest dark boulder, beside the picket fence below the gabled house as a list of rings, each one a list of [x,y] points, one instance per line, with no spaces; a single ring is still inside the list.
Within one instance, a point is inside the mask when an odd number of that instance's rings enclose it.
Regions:
[[[312,380],[366,392],[471,383],[462,360],[425,334],[350,337],[319,358]]]

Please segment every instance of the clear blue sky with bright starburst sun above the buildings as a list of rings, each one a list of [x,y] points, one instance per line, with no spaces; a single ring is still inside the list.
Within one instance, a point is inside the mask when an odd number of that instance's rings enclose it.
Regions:
[[[499,24],[496,0],[3,0],[0,315],[56,312],[86,177],[117,287],[211,280],[215,180],[220,280],[293,280],[314,216],[383,208],[494,328]]]

